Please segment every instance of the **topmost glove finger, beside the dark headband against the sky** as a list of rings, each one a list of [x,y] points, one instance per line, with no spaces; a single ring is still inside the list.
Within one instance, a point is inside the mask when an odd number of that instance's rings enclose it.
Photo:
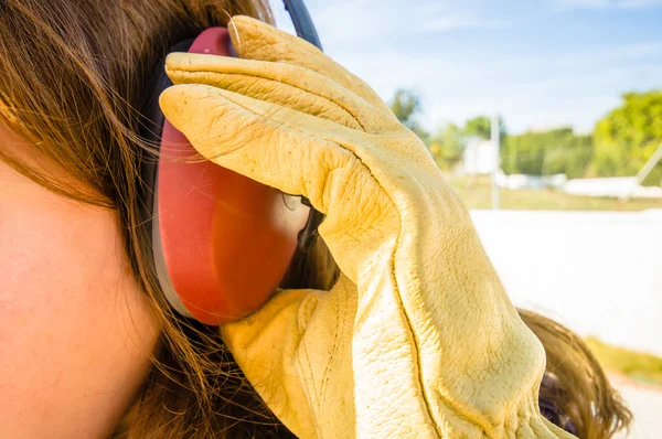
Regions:
[[[234,47],[242,58],[295,64],[309,68],[392,115],[388,106],[367,84],[306,40],[245,15],[233,17],[227,26]]]

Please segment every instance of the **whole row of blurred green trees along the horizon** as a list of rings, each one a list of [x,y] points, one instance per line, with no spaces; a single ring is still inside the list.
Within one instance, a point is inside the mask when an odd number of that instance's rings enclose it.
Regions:
[[[445,170],[461,162],[469,138],[491,138],[488,116],[477,116],[465,126],[447,124],[427,132],[418,121],[420,97],[408,89],[395,93],[391,108],[421,138]],[[569,127],[509,135],[503,119],[499,132],[501,168],[506,174],[564,173],[570,179],[632,176],[662,143],[662,90],[622,95],[621,105],[605,115],[590,135],[578,135]],[[662,163],[658,163],[644,184],[661,183]]]

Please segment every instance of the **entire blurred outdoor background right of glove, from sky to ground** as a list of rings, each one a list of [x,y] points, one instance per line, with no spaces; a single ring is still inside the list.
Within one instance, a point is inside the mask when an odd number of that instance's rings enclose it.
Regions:
[[[585,336],[629,437],[659,438],[662,0],[306,3],[423,139],[513,302]]]

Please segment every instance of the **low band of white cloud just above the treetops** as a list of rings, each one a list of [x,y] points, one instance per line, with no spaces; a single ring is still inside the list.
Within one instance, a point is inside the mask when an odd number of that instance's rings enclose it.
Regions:
[[[588,132],[619,105],[629,84],[641,89],[660,86],[659,60],[662,41],[494,63],[393,52],[337,56],[384,99],[398,87],[418,90],[427,129],[440,121],[463,124],[498,106],[512,132],[562,125]]]

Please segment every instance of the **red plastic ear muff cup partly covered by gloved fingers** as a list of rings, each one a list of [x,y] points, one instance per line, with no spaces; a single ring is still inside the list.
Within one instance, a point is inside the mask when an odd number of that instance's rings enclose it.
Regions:
[[[232,56],[231,44],[225,28],[211,28],[188,52]],[[162,78],[156,82],[161,90],[168,86]],[[152,93],[152,107],[159,94]],[[167,120],[160,148],[150,211],[154,263],[169,301],[180,313],[214,325],[255,311],[284,278],[309,207],[204,161]],[[146,204],[149,210],[150,201]]]

